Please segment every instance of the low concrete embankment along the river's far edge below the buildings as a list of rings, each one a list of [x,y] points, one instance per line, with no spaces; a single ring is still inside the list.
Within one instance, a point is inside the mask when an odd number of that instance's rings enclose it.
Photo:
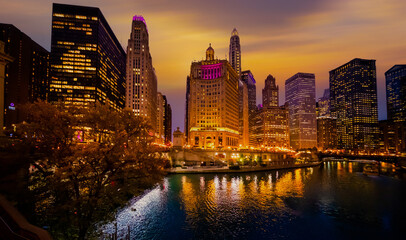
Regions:
[[[247,173],[247,172],[260,172],[260,171],[270,171],[270,170],[281,170],[281,169],[292,169],[292,168],[307,168],[315,167],[322,164],[322,162],[311,162],[311,163],[300,163],[300,164],[289,164],[289,165],[277,165],[269,167],[243,167],[239,170],[224,168],[176,168],[168,170],[168,174],[181,174],[181,173]]]

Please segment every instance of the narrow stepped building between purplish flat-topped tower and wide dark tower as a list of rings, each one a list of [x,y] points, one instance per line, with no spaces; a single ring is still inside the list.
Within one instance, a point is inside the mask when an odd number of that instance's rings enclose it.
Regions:
[[[337,119],[330,113],[330,90],[319,98],[317,110],[317,147],[321,150],[337,148]]]

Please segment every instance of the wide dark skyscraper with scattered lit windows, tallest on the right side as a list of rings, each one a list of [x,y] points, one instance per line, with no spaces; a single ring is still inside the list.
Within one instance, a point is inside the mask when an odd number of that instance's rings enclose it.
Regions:
[[[355,58],[331,70],[330,100],[338,148],[375,149],[379,131],[375,60]]]

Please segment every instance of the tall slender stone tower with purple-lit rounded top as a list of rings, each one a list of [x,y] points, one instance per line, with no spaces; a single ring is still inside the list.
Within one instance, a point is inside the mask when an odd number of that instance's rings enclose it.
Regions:
[[[127,46],[126,107],[135,115],[148,119],[153,129],[157,125],[157,78],[149,52],[147,24],[135,15]]]

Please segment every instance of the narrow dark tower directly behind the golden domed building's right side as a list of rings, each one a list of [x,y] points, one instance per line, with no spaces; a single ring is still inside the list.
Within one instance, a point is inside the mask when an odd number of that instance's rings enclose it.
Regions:
[[[241,81],[247,85],[248,90],[248,128],[249,128],[249,142],[250,146],[255,145],[254,133],[254,119],[257,112],[257,88],[255,86],[256,81],[254,75],[252,75],[250,70],[243,71],[241,73]]]

